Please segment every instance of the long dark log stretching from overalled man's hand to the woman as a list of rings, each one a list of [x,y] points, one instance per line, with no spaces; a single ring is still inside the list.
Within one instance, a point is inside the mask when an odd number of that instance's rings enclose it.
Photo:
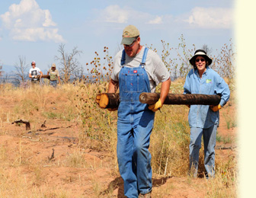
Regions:
[[[139,95],[139,101],[143,104],[155,104],[160,98],[160,93],[142,93]],[[218,105],[219,95],[209,94],[168,94],[164,104],[201,104]]]

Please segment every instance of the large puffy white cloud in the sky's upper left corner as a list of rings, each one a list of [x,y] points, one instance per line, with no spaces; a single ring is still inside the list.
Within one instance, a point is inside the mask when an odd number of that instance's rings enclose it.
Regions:
[[[21,0],[13,4],[5,14],[0,15],[4,27],[10,30],[13,40],[53,40],[64,41],[58,34],[49,10],[42,10],[35,0]]]

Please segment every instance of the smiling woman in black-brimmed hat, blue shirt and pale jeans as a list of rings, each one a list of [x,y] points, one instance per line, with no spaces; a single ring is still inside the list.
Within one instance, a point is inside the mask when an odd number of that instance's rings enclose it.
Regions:
[[[217,106],[191,105],[188,113],[190,125],[190,174],[197,177],[201,137],[204,145],[206,177],[215,175],[216,132],[219,126],[219,110],[229,101],[229,86],[217,72],[209,68],[212,63],[206,52],[198,49],[190,59],[193,69],[187,74],[184,94],[219,94]]]

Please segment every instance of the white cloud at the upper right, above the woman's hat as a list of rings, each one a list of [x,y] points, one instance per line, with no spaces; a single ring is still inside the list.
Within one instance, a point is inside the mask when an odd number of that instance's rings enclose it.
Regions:
[[[231,8],[194,8],[183,21],[191,27],[207,29],[228,29],[232,27],[233,11]]]

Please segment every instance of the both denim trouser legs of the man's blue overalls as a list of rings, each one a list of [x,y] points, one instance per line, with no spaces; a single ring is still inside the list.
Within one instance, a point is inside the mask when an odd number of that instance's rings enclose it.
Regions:
[[[124,195],[137,198],[139,193],[152,190],[149,139],[155,113],[131,114],[131,122],[117,121],[117,161],[123,178]]]

